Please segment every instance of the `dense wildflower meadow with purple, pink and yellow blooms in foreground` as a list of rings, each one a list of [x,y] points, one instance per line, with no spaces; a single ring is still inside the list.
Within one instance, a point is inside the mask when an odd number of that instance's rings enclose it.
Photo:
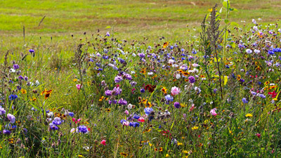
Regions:
[[[280,21],[231,2],[185,39],[21,27],[0,44],[0,157],[281,157]]]

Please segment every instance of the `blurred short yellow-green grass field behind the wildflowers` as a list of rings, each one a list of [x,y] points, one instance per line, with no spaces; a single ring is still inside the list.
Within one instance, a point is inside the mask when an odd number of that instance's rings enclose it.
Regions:
[[[112,31],[122,38],[167,36],[184,39],[188,30],[198,27],[208,9],[218,0],[195,1],[1,1],[0,33],[4,37],[22,37],[22,27],[27,35],[53,36]],[[231,1],[238,12],[230,15],[240,25],[252,18],[261,22],[275,22],[281,18],[280,1]],[[40,20],[46,16],[38,27]],[[241,22],[245,20],[246,22]],[[188,25],[188,27],[187,27]]]

